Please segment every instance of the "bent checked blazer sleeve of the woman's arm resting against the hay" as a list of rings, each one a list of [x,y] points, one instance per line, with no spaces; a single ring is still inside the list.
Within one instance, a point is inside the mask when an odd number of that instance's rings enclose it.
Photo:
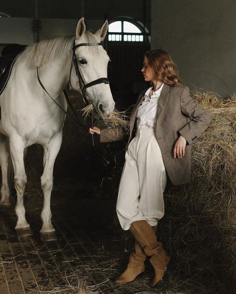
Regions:
[[[188,144],[192,144],[210,125],[213,115],[203,109],[197,102],[190,96],[189,88],[185,87],[180,98],[180,109],[190,122],[178,131]]]

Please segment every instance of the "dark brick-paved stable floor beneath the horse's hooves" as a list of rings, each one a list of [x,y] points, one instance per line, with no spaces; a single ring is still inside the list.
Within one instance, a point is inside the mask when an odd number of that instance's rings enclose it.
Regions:
[[[117,249],[120,240],[101,235],[96,228],[86,232],[85,226],[80,223],[82,211],[76,214],[63,203],[59,206],[52,204],[52,219],[58,240],[42,242],[39,235],[42,198],[26,195],[26,219],[34,234],[25,238],[15,233],[13,199],[11,203],[11,207],[0,207],[0,294],[52,291],[71,283],[71,275],[85,278],[87,285],[93,286],[92,290],[103,294],[153,293],[145,277],[142,278],[143,290],[147,292],[140,292],[140,284],[134,283],[130,290],[130,285],[114,283],[120,273],[122,252]],[[63,213],[59,212],[61,209]],[[91,209],[91,215],[96,218],[94,214]],[[97,221],[99,226],[100,221]]]

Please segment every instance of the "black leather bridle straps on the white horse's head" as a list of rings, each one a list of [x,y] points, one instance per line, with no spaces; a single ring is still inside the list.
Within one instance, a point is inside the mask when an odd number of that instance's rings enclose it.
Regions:
[[[78,76],[78,79],[79,79],[79,84],[80,84],[80,88],[81,88],[81,92],[82,92],[82,95],[83,95],[83,99],[84,99],[84,102],[88,105],[89,102],[86,98],[86,89],[91,87],[91,86],[94,86],[94,85],[97,85],[97,84],[101,84],[101,83],[105,83],[105,84],[109,84],[110,81],[107,77],[100,77],[100,78],[97,78],[89,83],[85,83],[84,79],[83,79],[83,76],[80,72],[80,69],[79,69],[79,65],[78,65],[78,62],[77,62],[77,58],[76,58],[76,55],[75,55],[75,51],[78,47],[81,47],[81,46],[102,46],[102,43],[81,43],[81,44],[78,44],[78,45],[75,45],[75,39],[74,39],[74,42],[73,42],[73,47],[72,47],[72,51],[73,51],[73,55],[72,55],[72,61],[71,61],[71,69],[70,69],[70,84],[71,84],[71,71],[72,71],[72,67],[73,67],[73,64],[75,66],[75,72],[76,72],[76,75]]]

